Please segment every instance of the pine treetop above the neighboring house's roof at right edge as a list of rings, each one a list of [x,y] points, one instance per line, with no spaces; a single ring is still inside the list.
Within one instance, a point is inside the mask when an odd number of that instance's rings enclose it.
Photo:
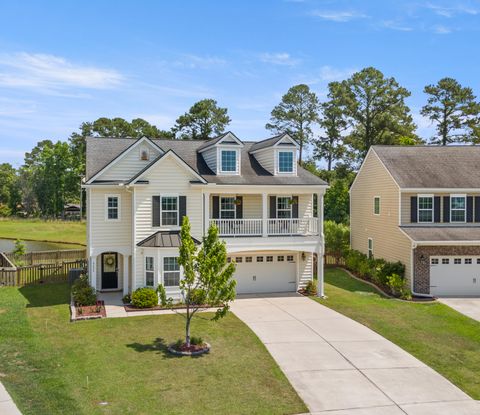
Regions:
[[[455,142],[478,142],[480,138],[480,103],[471,88],[455,79],[443,78],[423,90],[428,95],[421,114],[436,126],[432,144],[443,146]]]

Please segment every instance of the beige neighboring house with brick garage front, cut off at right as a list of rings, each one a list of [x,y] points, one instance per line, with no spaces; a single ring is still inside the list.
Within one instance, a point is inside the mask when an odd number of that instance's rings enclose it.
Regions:
[[[480,295],[480,146],[373,146],[350,203],[352,248],[404,263],[414,293]]]

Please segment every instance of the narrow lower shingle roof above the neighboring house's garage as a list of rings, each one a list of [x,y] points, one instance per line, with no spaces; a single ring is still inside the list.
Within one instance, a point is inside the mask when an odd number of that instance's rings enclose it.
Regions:
[[[401,226],[416,242],[480,241],[480,226]]]

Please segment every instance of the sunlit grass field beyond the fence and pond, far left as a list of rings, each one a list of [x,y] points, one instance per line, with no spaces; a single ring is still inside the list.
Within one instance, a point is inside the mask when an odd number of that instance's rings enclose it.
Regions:
[[[0,238],[85,245],[86,227],[85,222],[3,219],[0,220]]]

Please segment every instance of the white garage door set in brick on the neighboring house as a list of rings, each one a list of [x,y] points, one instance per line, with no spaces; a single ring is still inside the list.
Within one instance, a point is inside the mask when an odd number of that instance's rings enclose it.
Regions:
[[[430,293],[435,296],[480,296],[480,257],[430,257]]]

